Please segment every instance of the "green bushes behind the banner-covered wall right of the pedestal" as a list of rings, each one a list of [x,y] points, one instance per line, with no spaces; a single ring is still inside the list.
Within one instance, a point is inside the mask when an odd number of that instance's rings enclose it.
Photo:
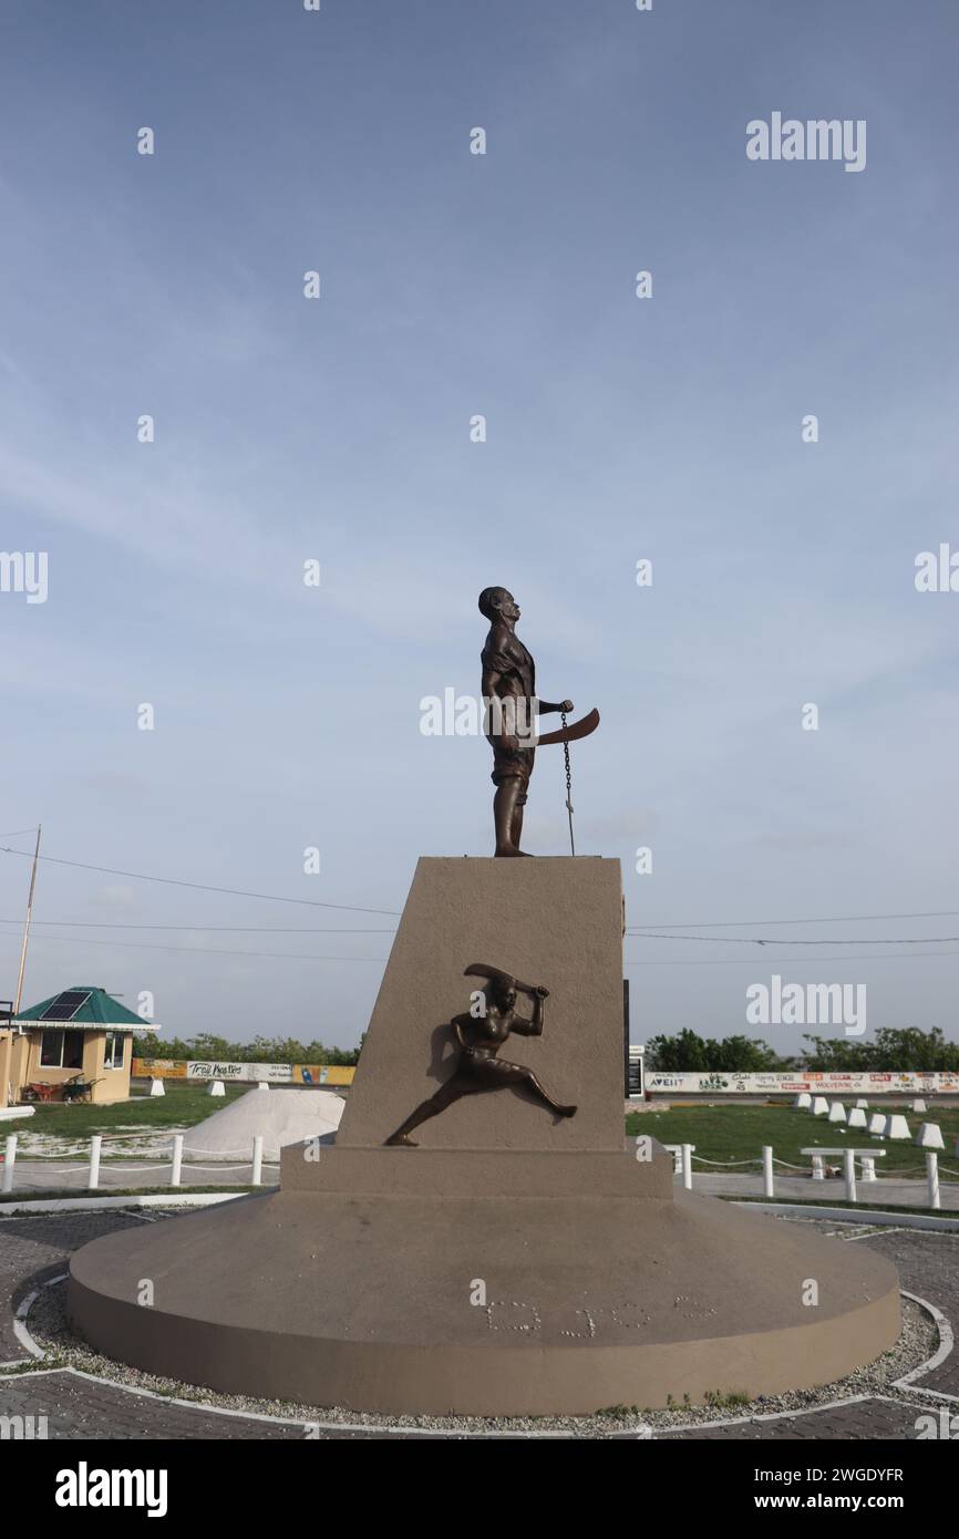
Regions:
[[[877,1031],[871,1042],[851,1037],[816,1037],[804,1033],[805,1053],[780,1057],[754,1037],[700,1037],[687,1027],[674,1037],[647,1043],[647,1068],[660,1074],[748,1074],[820,1070],[857,1074],[893,1074],[905,1070],[959,1073],[959,1042],[947,1042],[941,1027]]]

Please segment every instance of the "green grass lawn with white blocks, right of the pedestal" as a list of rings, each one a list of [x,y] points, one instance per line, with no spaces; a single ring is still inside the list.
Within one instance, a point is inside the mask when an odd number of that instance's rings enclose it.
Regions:
[[[880,1108],[879,1108],[880,1110]],[[890,1108],[902,1111],[902,1107]],[[847,1107],[848,1111],[848,1107]],[[956,1139],[959,1137],[959,1107],[944,1107],[930,1110],[925,1114],[905,1113],[910,1131],[916,1134],[921,1122],[937,1122],[942,1128],[945,1151],[939,1153],[944,1165],[959,1170],[959,1156],[954,1156]],[[825,1117],[813,1117],[808,1111],[794,1111],[791,1107],[677,1107],[674,1111],[643,1111],[627,1116],[627,1133],[650,1133],[660,1143],[694,1143],[696,1154],[714,1160],[750,1159],[759,1160],[764,1143],[773,1145],[773,1156],[785,1159],[793,1165],[808,1168],[808,1156],[800,1154],[802,1148],[840,1148],[847,1143],[853,1148],[885,1150],[885,1159],[877,1160],[876,1171],[887,1176],[891,1171],[925,1168],[925,1153],[913,1143],[890,1143],[871,1139],[862,1128],[842,1133],[836,1123],[828,1123]],[[745,1174],[759,1171],[759,1165],[745,1167]],[[782,1171],[780,1174],[790,1174]],[[694,1171],[707,1171],[708,1165],[694,1162]],[[954,1179],[954,1177],[945,1177]]]

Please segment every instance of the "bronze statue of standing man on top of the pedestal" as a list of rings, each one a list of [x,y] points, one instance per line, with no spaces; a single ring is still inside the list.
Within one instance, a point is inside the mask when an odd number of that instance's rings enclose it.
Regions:
[[[560,700],[557,705],[536,700],[536,665],[516,634],[520,611],[511,593],[505,588],[483,588],[479,608],[490,620],[482,651],[482,691],[488,713],[486,740],[493,748],[496,854],[523,856],[526,851],[519,848],[519,840],[536,754],[536,711],[540,716],[571,711],[573,700]]]

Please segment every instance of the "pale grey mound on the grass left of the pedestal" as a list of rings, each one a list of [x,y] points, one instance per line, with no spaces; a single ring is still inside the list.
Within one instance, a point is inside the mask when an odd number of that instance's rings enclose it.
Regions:
[[[320,1137],[332,1143],[346,1102],[329,1090],[249,1090],[188,1128],[183,1154],[189,1162],[211,1159],[246,1160],[254,1133],[263,1134],[263,1159],[279,1160],[285,1143]]]

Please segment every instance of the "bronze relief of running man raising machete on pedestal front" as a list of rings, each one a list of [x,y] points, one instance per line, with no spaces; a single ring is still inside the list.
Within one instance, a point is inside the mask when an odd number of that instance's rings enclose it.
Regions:
[[[520,983],[510,973],[488,966],[485,962],[473,962],[468,968],[463,968],[463,974],[466,977],[486,979],[485,1013],[477,1017],[465,1011],[462,1016],[453,1017],[449,1027],[460,1048],[453,1074],[440,1085],[436,1094],[423,1100],[400,1123],[396,1133],[386,1139],[386,1143],[416,1148],[417,1145],[409,1134],[422,1122],[437,1117],[440,1111],[451,1107],[460,1096],[476,1096],[483,1090],[502,1090],[505,1085],[517,1085],[526,1090],[557,1117],[576,1116],[576,1107],[565,1107],[554,1100],[531,1068],[497,1057],[499,1050],[511,1033],[520,1037],[540,1037],[543,1034],[543,1011],[550,990],[539,983]],[[533,999],[531,1019],[520,1016],[516,1010],[519,993],[528,994]]]

